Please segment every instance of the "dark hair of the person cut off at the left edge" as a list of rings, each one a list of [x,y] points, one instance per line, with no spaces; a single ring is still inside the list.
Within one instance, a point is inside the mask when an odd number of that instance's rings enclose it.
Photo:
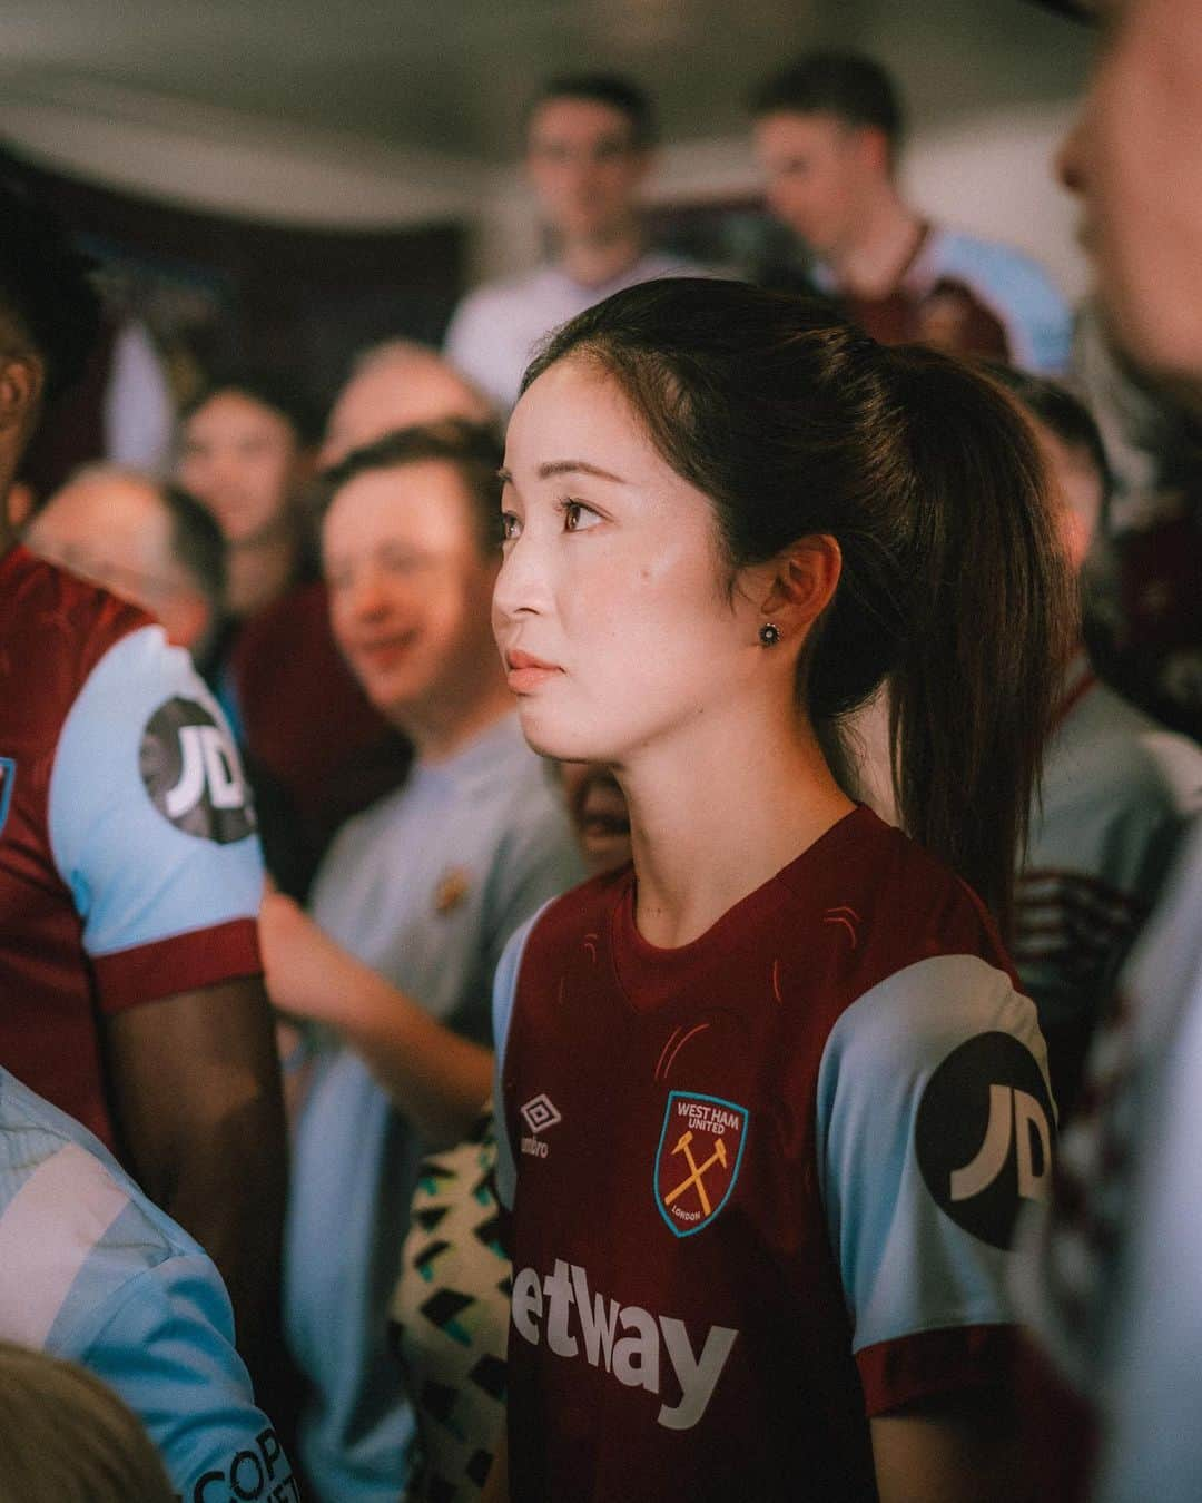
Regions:
[[[93,268],[56,213],[0,179],[0,304],[45,364],[45,400],[80,379],[101,328]]]

